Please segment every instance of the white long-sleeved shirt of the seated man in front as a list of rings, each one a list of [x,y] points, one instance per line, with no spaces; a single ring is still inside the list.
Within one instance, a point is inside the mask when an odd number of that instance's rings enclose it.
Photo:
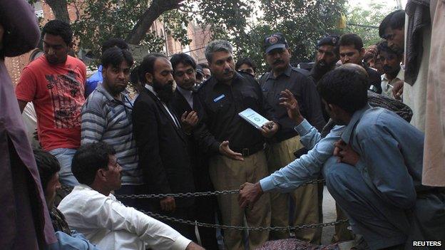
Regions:
[[[58,209],[71,229],[85,235],[99,249],[145,250],[148,246],[183,250],[190,244],[189,239],[163,222],[126,207],[113,194],[106,197],[84,184],[74,187]]]

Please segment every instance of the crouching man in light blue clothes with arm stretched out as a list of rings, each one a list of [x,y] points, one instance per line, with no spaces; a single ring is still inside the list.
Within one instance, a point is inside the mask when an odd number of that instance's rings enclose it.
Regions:
[[[444,189],[421,185],[422,133],[388,110],[370,108],[366,82],[352,68],[328,73],[319,92],[331,118],[345,126],[322,140],[310,133],[310,145],[319,141],[314,149],[259,183],[244,184],[240,204],[251,205],[264,190],[298,187],[324,163],[329,192],[370,249],[410,249],[412,241],[445,239]],[[287,100],[283,104],[292,109]],[[303,135],[313,130],[304,122],[299,126],[306,127]],[[334,137],[348,142],[337,142],[339,160],[329,157]]]

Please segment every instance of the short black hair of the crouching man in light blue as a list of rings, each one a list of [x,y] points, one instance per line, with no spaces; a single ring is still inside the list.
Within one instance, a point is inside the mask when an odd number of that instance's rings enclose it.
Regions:
[[[326,73],[317,85],[317,90],[328,104],[334,104],[349,114],[367,105],[366,75],[350,68],[337,68]]]

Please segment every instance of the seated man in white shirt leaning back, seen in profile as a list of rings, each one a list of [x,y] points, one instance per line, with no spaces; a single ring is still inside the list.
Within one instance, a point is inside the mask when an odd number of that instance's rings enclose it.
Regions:
[[[111,191],[121,187],[122,167],[115,155],[105,142],[79,147],[71,167],[80,184],[58,206],[68,225],[101,249],[203,249],[116,200]]]

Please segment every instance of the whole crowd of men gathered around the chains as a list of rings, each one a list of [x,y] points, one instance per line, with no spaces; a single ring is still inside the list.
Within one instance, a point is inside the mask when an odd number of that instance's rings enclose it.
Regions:
[[[149,53],[135,63],[128,44],[112,38],[87,78],[85,64],[68,54],[70,25],[48,21],[40,36],[29,4],[17,2],[1,4],[20,13],[1,19],[2,56],[29,51],[39,39],[44,54],[23,69],[16,95],[1,85],[8,112],[0,164],[11,166],[2,197],[11,199],[2,198],[8,230],[0,246],[218,249],[222,235],[225,249],[256,249],[291,234],[319,245],[321,228],[217,232],[144,212],[230,226],[317,224],[324,186],[305,183],[322,178],[337,219],[349,219],[336,226],[333,242],[360,235],[357,249],[411,249],[412,241],[445,239],[445,190],[422,184],[424,132],[409,124],[416,110],[404,87],[404,11],[382,21],[383,40],[367,50],[353,33],[320,38],[309,71],[291,66],[283,33],[265,34],[270,72],[262,75],[260,62],[235,63],[227,41],[208,44],[207,63],[186,53]],[[29,103],[34,153],[18,115]],[[239,113],[249,108],[269,121],[247,123]],[[232,189],[240,194],[115,197]],[[29,224],[6,226],[19,218]]]

